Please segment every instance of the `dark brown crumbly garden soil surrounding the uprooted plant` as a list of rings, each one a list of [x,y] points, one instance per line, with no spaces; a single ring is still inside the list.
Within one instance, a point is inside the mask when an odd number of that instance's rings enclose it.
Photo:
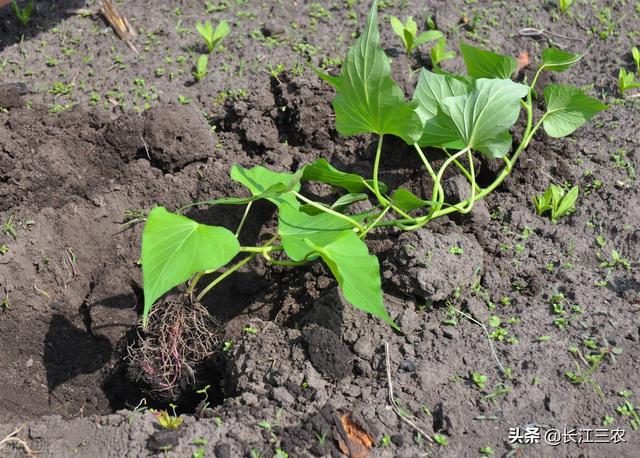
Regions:
[[[325,157],[370,173],[372,139],[337,134],[333,91],[304,65],[332,71],[369,5],[209,2],[219,8],[206,13],[201,2],[132,0],[119,7],[139,31],[137,53],[87,14],[95,2],[34,5],[26,29],[0,11],[0,440],[25,425],[18,437],[39,456],[192,456],[201,447],[216,457],[341,456],[356,446],[345,437],[348,416],[376,457],[478,456],[482,447],[500,456],[637,456],[640,436],[617,407],[640,404],[640,98],[618,98],[617,72],[633,66],[638,4],[596,0],[561,16],[552,2],[384,2],[383,43],[408,93],[410,69],[430,64],[429,46],[406,57],[387,15],[434,15],[451,49],[464,40],[533,60],[546,39],[518,30],[544,28],[586,55],[542,83],[583,87],[610,108],[569,138],[538,134],[470,215],[372,235],[403,334],[345,303],[319,263],[256,262],[231,276],[203,302],[222,323],[221,344],[175,401],[184,419],[176,430],[159,426],[150,408],[167,401],[126,358],[142,306],[135,218],[156,204],[245,195],[228,177],[234,163],[290,171]],[[192,55],[202,49],[192,26],[205,18],[229,20],[232,36],[195,83]],[[462,68],[460,58],[444,65]],[[389,186],[430,189],[409,148],[390,139],[383,157]],[[495,164],[479,166],[481,180],[494,176]],[[575,213],[557,224],[531,203],[554,182],[581,189]],[[451,199],[464,189],[447,179]],[[273,214],[255,205],[242,242],[265,237]],[[242,209],[188,215],[235,227]],[[628,268],[603,266],[614,249]],[[570,383],[566,372],[584,371],[593,342],[602,363]],[[196,391],[206,385],[202,403]],[[448,445],[429,445],[404,422],[390,388],[401,412]],[[509,443],[510,428],[601,428],[605,416],[607,428],[626,430],[625,443]],[[0,455],[25,452],[13,443]]]

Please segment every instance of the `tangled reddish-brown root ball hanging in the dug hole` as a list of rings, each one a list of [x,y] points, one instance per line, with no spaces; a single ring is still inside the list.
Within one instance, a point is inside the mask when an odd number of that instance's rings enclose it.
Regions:
[[[219,324],[199,303],[187,296],[156,304],[146,330],[128,348],[135,379],[151,394],[175,400],[197,383],[198,366],[219,348]]]

